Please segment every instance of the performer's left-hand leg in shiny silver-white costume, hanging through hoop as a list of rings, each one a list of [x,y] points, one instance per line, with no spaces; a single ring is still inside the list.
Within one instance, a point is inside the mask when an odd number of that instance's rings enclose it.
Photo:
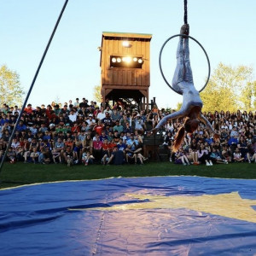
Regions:
[[[177,44],[177,64],[176,69],[172,79],[172,87],[174,90],[179,91],[178,83],[184,80],[184,55],[183,55],[183,38],[179,38],[179,42]]]

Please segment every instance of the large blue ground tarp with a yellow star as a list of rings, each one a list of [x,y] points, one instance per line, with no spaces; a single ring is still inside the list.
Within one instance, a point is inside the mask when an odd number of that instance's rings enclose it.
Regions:
[[[256,181],[110,178],[0,190],[1,255],[253,255]]]

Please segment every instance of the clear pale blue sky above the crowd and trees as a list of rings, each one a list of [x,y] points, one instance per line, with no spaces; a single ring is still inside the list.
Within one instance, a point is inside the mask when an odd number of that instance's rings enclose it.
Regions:
[[[0,66],[20,75],[27,92],[48,44],[64,0],[0,0]],[[199,41],[211,62],[211,73],[220,62],[237,67],[256,63],[256,1],[188,1],[190,36]],[[102,32],[152,34],[150,44],[149,99],[160,108],[175,108],[182,96],[172,91],[159,68],[166,40],[183,25],[183,0],[69,0],[50,44],[28,103],[94,100],[93,88],[101,81]],[[162,53],[163,71],[172,81],[177,38]],[[207,78],[207,59],[194,41],[189,43],[195,87]],[[3,102],[1,102],[3,103]]]

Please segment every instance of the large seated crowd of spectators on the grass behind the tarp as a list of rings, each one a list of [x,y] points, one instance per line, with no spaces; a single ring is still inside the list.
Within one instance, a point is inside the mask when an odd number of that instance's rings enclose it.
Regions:
[[[20,109],[3,104],[0,108],[0,159],[9,143]],[[79,98],[63,106],[52,102],[46,107],[28,104],[16,125],[15,137],[7,153],[10,163],[140,164],[148,160],[143,152],[143,139],[166,109],[137,110],[116,103],[105,104]],[[176,164],[198,165],[230,162],[256,163],[256,112],[215,111],[203,113],[220,138],[214,142],[205,125],[199,125],[192,136],[186,134],[182,147],[172,153],[172,144],[183,119],[170,120],[160,131]]]

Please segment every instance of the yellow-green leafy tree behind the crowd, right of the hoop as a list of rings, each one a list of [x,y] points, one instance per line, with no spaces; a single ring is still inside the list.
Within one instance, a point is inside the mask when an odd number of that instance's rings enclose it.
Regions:
[[[219,63],[213,71],[205,90],[201,92],[204,102],[203,111],[230,110],[247,108],[247,96],[253,100],[252,83],[253,68],[246,66],[231,67]]]

